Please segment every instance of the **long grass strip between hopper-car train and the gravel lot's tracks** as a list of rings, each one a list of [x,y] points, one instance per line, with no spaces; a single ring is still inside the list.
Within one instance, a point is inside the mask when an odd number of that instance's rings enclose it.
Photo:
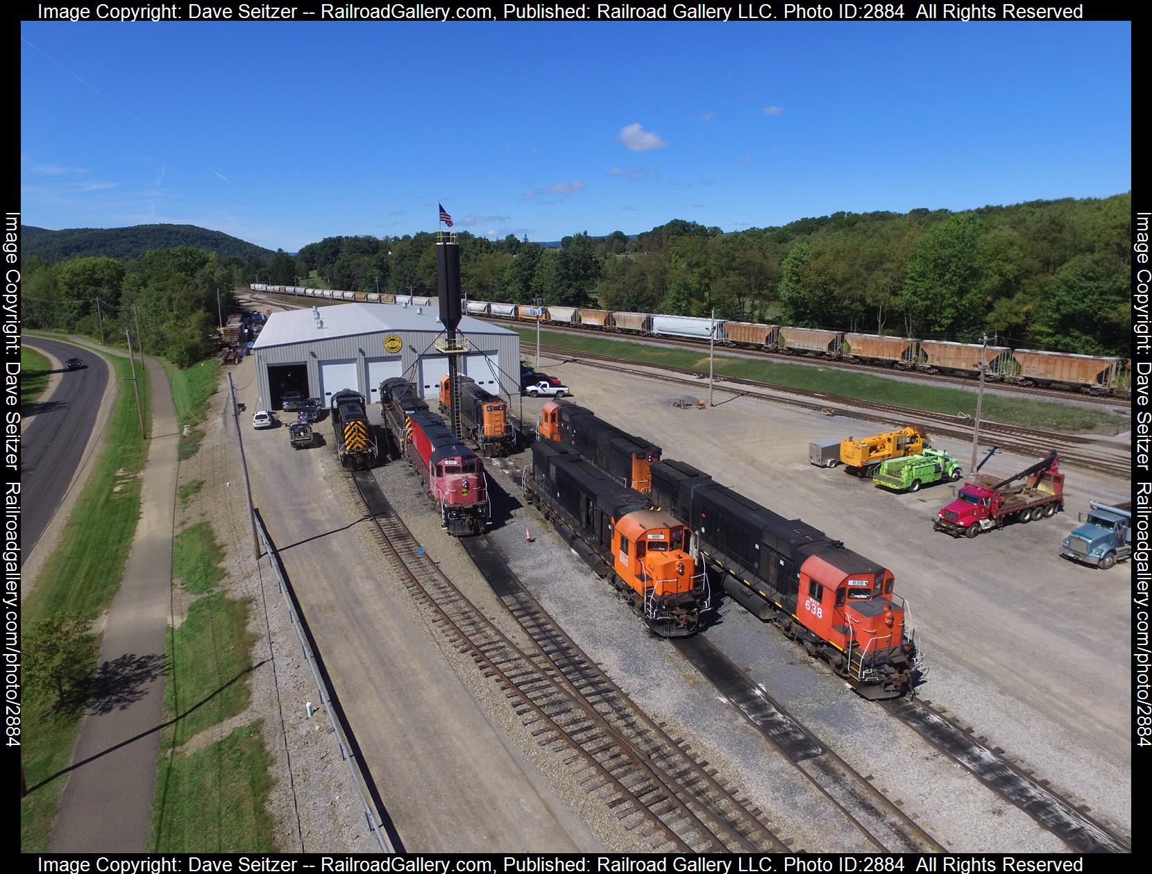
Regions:
[[[536,348],[536,329],[515,326],[521,335],[521,351]],[[621,340],[626,340],[622,335]],[[654,366],[683,367],[695,373],[708,372],[707,355],[692,349],[672,349],[646,343],[621,342],[604,336],[541,330],[540,343],[574,352],[611,355],[614,358]],[[908,406],[926,412],[942,412],[950,416],[965,413],[976,416],[976,381],[971,388],[926,386],[900,379],[885,379],[867,373],[855,373],[839,367],[819,365],[781,364],[779,362],[715,357],[715,372],[723,377],[750,379],[802,392],[819,392],[836,397],[857,401],[873,401],[899,406]],[[1092,432],[1115,434],[1122,431],[1129,417],[1111,412],[1084,409],[1046,401],[1029,401],[1006,397],[992,393],[984,394],[983,418],[1005,425],[1023,425],[1061,432]]]

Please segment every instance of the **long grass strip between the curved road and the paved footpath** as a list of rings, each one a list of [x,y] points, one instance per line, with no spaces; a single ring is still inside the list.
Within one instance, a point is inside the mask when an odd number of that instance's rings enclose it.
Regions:
[[[147,443],[141,440],[131,387],[123,382],[131,377],[128,359],[107,356],[107,360],[119,392],[104,448],[65,526],[60,546],[24,599],[22,622],[28,626],[58,610],[75,610],[94,620],[112,602],[124,575],[141,515],[139,473],[147,461]],[[147,377],[137,373],[144,420],[151,423]],[[96,662],[90,667],[94,670]],[[21,801],[24,852],[47,848],[63,788],[61,772],[71,759],[83,713],[81,702],[58,708],[54,693],[25,690],[21,760],[29,789],[36,789]]]

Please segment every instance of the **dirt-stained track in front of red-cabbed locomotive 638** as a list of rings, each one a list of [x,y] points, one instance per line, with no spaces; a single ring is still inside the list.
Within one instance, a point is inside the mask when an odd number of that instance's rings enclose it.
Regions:
[[[961,725],[947,712],[926,699],[897,698],[881,701],[895,719],[948,755],[1009,804],[1024,811],[1040,826],[1077,852],[1129,853],[1131,841],[1115,834],[1039,780],[1010,762],[998,746]]]

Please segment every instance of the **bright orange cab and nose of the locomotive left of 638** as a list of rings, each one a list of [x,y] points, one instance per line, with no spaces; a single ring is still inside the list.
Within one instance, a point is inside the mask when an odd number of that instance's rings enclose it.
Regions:
[[[649,625],[665,637],[695,633],[707,609],[707,582],[692,557],[691,538],[687,526],[659,510],[630,512],[613,530],[615,571],[644,598]]]

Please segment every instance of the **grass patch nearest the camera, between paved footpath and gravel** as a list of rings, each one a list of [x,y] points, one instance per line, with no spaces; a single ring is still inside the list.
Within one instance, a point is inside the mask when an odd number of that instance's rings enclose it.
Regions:
[[[272,757],[260,720],[188,754],[160,760],[152,852],[274,851],[267,812]]]

